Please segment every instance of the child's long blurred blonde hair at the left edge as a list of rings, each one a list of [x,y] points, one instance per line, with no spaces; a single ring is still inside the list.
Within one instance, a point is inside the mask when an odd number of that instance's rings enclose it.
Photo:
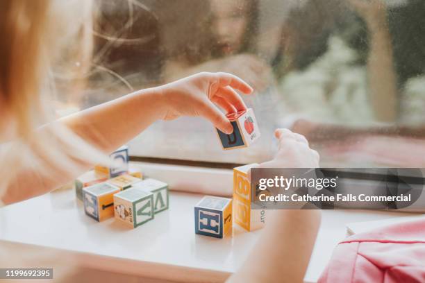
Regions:
[[[56,178],[59,183],[82,173],[82,161],[106,162],[97,149],[53,122],[51,103],[55,79],[67,85],[61,94],[83,87],[92,55],[93,12],[89,0],[0,2],[0,110],[10,118],[8,124],[0,122],[0,199],[21,169],[33,170],[40,182]],[[42,134],[35,132],[46,123],[51,126]],[[1,139],[5,132],[7,143]],[[60,174],[51,176],[53,168]]]

